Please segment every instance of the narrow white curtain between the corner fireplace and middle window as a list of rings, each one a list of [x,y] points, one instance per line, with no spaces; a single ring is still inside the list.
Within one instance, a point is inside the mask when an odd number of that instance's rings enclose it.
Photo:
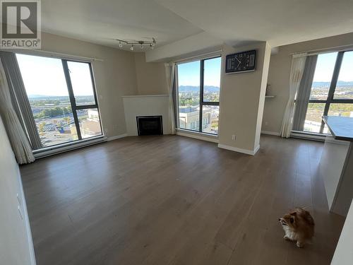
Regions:
[[[175,63],[170,62],[169,64],[164,64],[165,66],[165,75],[167,78],[167,89],[169,95],[169,134],[176,134],[175,130],[175,116],[174,116],[174,100],[173,100],[173,92],[175,85]]]

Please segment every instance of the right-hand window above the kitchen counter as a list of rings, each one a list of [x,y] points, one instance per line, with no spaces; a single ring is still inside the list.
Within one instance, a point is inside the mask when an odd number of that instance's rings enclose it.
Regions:
[[[328,133],[323,115],[353,117],[353,51],[318,55],[305,107],[304,131],[313,133]]]

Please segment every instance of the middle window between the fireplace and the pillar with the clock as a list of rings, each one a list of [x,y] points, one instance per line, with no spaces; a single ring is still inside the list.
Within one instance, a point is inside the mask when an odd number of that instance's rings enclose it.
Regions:
[[[220,57],[177,65],[179,128],[218,134],[220,69]]]

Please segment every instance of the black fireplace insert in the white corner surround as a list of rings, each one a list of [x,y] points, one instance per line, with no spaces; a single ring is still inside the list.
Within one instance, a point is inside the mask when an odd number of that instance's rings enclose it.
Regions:
[[[138,135],[162,135],[162,116],[136,117]]]

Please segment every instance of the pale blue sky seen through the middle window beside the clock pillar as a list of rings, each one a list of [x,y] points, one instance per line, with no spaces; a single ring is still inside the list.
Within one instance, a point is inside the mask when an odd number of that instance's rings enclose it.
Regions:
[[[178,64],[179,86],[200,86],[200,61]],[[204,86],[220,87],[221,58],[205,60]]]

